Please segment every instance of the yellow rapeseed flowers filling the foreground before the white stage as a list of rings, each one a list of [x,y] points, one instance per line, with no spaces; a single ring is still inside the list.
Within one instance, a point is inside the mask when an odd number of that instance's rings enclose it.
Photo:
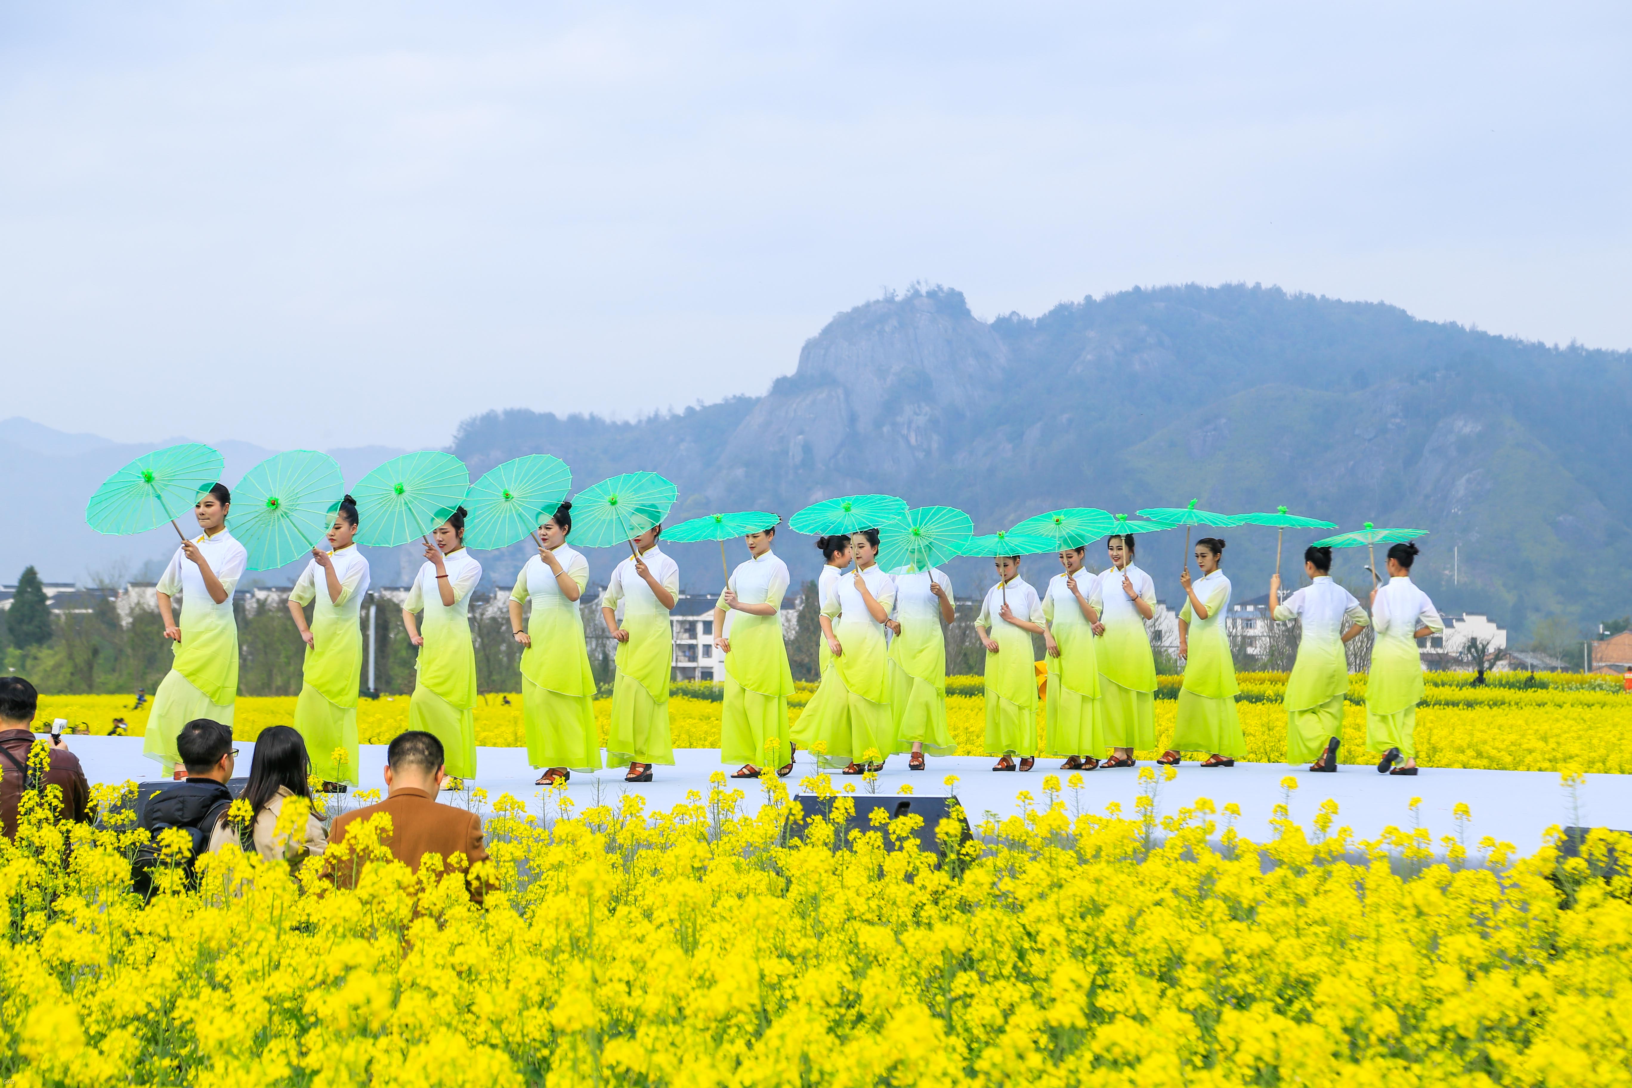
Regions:
[[[42,744],[36,745],[42,754]],[[1170,780],[1170,776],[1167,778]],[[787,835],[716,776],[666,812],[488,814],[491,860],[416,876],[348,838],[339,871],[228,847],[189,886],[145,832],[54,820],[0,843],[0,1078],[127,1085],[1627,1085],[1632,842],[1585,856],[1389,829],[1239,835],[1231,806],[1023,816],[854,811],[831,780]],[[955,783],[948,781],[948,786]],[[1291,780],[1288,796],[1296,788]],[[101,788],[116,814],[127,789]],[[485,806],[472,793],[468,801]],[[299,801],[282,827],[304,825]],[[178,835],[180,832],[166,832]],[[162,842],[168,856],[175,843]],[[335,853],[339,853],[338,850]],[[473,905],[467,878],[490,891]]]

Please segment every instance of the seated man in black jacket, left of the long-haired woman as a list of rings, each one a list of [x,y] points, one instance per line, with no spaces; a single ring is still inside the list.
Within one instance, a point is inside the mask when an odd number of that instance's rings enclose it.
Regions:
[[[209,847],[211,829],[232,806],[227,780],[232,778],[238,759],[238,749],[232,747],[232,729],[212,718],[194,718],[176,734],[176,752],[181,755],[186,778],[166,781],[155,789],[142,807],[142,819],[137,820],[137,827],[150,835],[149,843],[131,863],[132,882],[142,897],[153,894],[152,871],[170,865],[160,856],[160,835],[171,827],[188,832],[191,848],[180,861],[180,868],[191,879],[194,860]]]

